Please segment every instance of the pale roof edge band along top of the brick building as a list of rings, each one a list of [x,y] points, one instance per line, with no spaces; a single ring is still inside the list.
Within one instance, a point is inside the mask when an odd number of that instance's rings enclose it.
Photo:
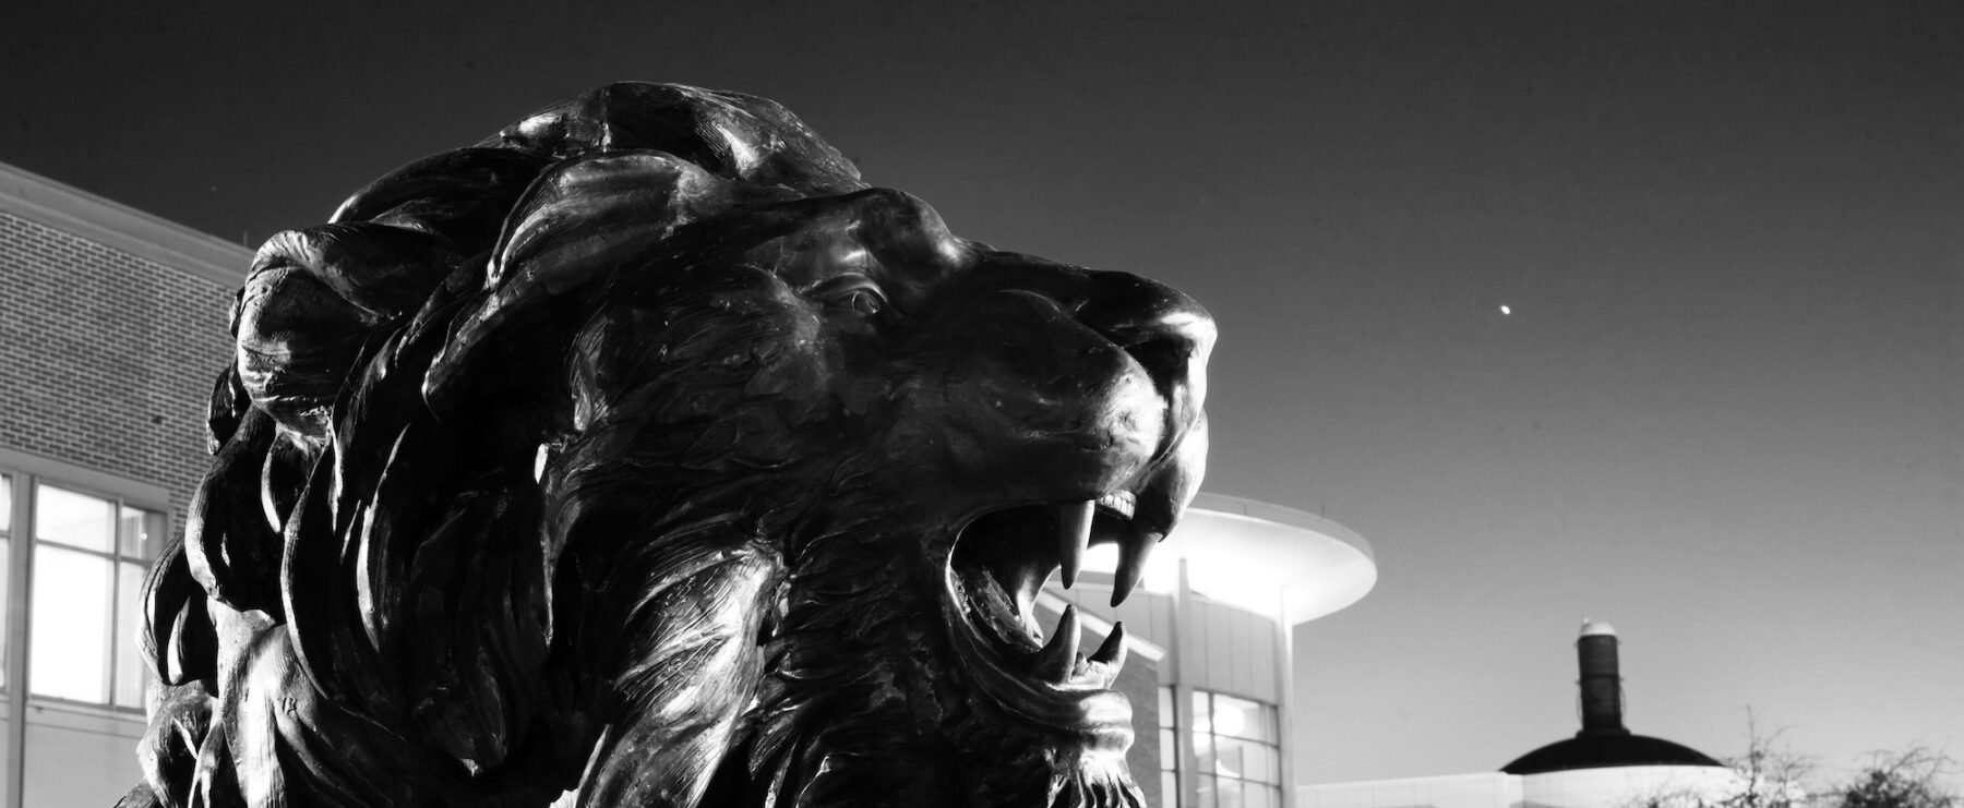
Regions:
[[[96,241],[124,253],[238,286],[253,251],[177,222],[0,163],[0,212]]]

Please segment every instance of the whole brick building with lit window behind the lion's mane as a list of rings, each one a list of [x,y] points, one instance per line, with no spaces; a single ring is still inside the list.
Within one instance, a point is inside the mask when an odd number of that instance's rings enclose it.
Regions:
[[[141,777],[136,598],[208,463],[249,259],[0,165],[0,806],[108,806]]]

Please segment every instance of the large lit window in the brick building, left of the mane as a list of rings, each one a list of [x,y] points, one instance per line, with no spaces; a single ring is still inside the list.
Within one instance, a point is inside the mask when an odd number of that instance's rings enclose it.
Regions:
[[[33,488],[27,682],[35,696],[143,706],[139,600],[163,533],[163,514]]]

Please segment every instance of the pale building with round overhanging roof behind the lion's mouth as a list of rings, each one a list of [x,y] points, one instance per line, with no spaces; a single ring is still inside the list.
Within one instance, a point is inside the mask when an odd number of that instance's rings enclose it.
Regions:
[[[1064,604],[1076,604],[1088,641],[1104,637],[1112,622],[1125,624],[1133,661],[1119,686],[1133,702],[1139,737],[1129,763],[1147,804],[1292,804],[1292,628],[1371,590],[1371,545],[1314,514],[1200,494],[1153,551],[1141,590],[1116,610],[1116,553],[1100,549],[1110,547],[1092,547],[1076,586],[1051,582],[1039,612],[1055,620]],[[1149,679],[1133,671],[1145,661]]]

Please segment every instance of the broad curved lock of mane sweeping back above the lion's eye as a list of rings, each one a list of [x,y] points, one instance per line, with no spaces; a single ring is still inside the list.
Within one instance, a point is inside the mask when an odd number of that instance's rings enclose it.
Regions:
[[[676,227],[750,194],[660,151],[577,157],[542,173],[507,220],[485,290],[458,314],[430,363],[430,410],[444,416],[518,390],[536,396],[562,377],[581,312],[617,271],[648,261]]]

